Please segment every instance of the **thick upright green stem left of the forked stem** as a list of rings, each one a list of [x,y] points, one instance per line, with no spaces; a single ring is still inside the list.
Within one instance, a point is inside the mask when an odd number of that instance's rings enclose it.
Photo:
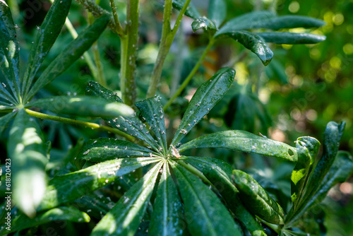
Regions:
[[[138,0],[127,1],[126,35],[121,37],[121,97],[126,105],[136,100],[136,49],[138,41]]]

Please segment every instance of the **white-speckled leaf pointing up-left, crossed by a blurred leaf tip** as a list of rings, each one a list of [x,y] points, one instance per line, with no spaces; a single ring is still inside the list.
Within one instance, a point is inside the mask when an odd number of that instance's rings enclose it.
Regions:
[[[107,90],[102,85],[96,82],[88,83],[86,88],[87,95],[93,95],[96,97],[104,98],[111,102],[122,102],[119,96],[115,95],[112,91]],[[150,135],[150,131],[146,128],[146,125],[138,119],[138,117],[131,116],[128,119],[124,117],[116,117],[114,119],[104,119],[110,126],[123,131],[126,134],[130,134],[133,137],[139,138],[140,140],[148,143],[155,151],[160,150],[157,146],[155,139]],[[161,150],[160,150],[161,151]]]

